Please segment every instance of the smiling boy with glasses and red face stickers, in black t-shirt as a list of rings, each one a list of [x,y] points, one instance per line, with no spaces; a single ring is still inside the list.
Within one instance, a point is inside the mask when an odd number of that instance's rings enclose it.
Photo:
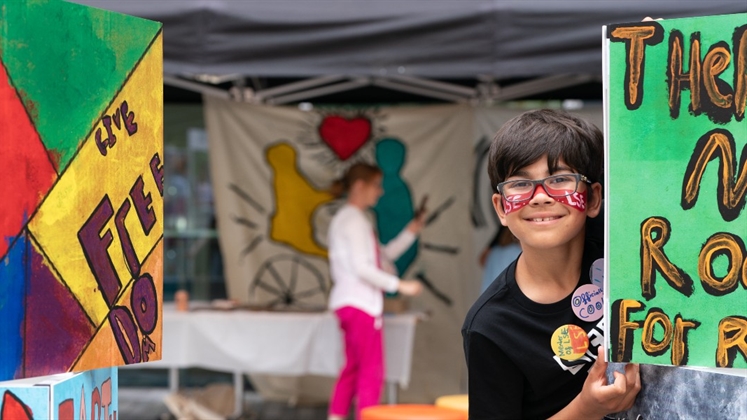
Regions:
[[[638,366],[608,384],[604,320],[571,303],[603,257],[586,237],[602,202],[601,132],[562,111],[525,112],[498,131],[488,162],[493,207],[522,253],[462,327],[469,418],[600,419],[630,408]]]

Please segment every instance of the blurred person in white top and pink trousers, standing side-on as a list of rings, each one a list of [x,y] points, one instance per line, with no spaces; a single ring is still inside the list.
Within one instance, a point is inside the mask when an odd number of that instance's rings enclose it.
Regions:
[[[335,188],[347,193],[345,205],[329,227],[329,265],[332,276],[329,308],[335,311],[345,340],[345,366],[332,391],[329,419],[347,418],[357,397],[356,419],[360,411],[377,405],[384,381],[381,314],[384,292],[417,295],[422,285],[416,280],[400,280],[381,268],[382,256],[394,261],[415,241],[423,228],[420,214],[386,246],[380,247],[366,210],[376,205],[383,190],[379,168],[356,163]]]

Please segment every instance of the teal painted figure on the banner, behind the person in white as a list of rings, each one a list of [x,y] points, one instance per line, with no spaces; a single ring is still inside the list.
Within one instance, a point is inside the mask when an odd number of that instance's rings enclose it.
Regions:
[[[407,149],[401,141],[385,138],[376,144],[376,164],[383,172],[382,187],[384,195],[374,206],[376,227],[379,240],[386,244],[415,217],[410,188],[402,179],[400,172],[405,164]],[[418,241],[412,244],[402,256],[395,261],[400,276],[410,267],[418,253]]]

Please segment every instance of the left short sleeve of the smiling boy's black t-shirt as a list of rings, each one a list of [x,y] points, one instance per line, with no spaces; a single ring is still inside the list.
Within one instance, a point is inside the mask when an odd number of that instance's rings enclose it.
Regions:
[[[522,418],[524,377],[516,365],[484,335],[465,331],[470,420]]]

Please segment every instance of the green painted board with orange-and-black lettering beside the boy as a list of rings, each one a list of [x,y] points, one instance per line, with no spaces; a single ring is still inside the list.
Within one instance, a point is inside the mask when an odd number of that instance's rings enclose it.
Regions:
[[[608,357],[747,367],[747,14],[605,28]]]

